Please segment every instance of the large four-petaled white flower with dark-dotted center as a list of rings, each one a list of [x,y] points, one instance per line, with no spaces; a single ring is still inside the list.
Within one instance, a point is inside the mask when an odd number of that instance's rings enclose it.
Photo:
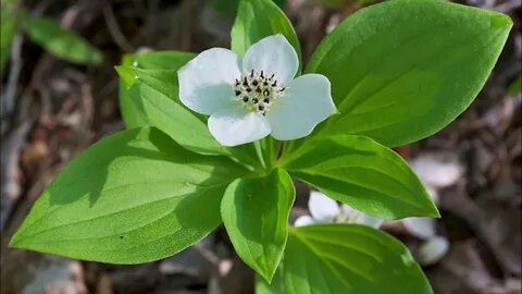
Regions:
[[[282,35],[252,45],[243,60],[231,50],[212,48],[178,71],[179,99],[210,115],[210,133],[225,146],[261,139],[309,135],[334,113],[330,81],[320,74],[294,79],[299,60]]]

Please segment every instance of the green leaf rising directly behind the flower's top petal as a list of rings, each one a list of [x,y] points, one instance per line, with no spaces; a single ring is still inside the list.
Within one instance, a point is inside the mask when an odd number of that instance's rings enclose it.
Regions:
[[[301,60],[301,49],[296,32],[285,13],[272,0],[241,0],[232,27],[232,50],[243,57],[258,40],[282,34],[296,49]]]

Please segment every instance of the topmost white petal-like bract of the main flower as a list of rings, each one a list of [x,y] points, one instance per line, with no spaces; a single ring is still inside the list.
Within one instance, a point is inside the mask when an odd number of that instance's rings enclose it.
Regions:
[[[275,75],[281,85],[287,85],[299,69],[296,50],[283,35],[261,39],[248,48],[243,59],[243,70],[263,71]]]

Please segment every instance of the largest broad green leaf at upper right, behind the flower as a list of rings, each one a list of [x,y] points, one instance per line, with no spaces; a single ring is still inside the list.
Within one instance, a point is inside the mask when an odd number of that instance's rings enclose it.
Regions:
[[[316,48],[340,115],[319,136],[359,134],[386,146],[430,136],[478,94],[512,26],[504,14],[434,0],[393,0],[353,14]]]

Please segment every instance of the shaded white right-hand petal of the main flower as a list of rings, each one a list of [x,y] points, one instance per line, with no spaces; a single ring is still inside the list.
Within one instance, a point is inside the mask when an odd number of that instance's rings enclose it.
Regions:
[[[320,74],[306,74],[288,84],[266,113],[272,136],[290,140],[308,136],[315,125],[336,111],[328,78]]]

